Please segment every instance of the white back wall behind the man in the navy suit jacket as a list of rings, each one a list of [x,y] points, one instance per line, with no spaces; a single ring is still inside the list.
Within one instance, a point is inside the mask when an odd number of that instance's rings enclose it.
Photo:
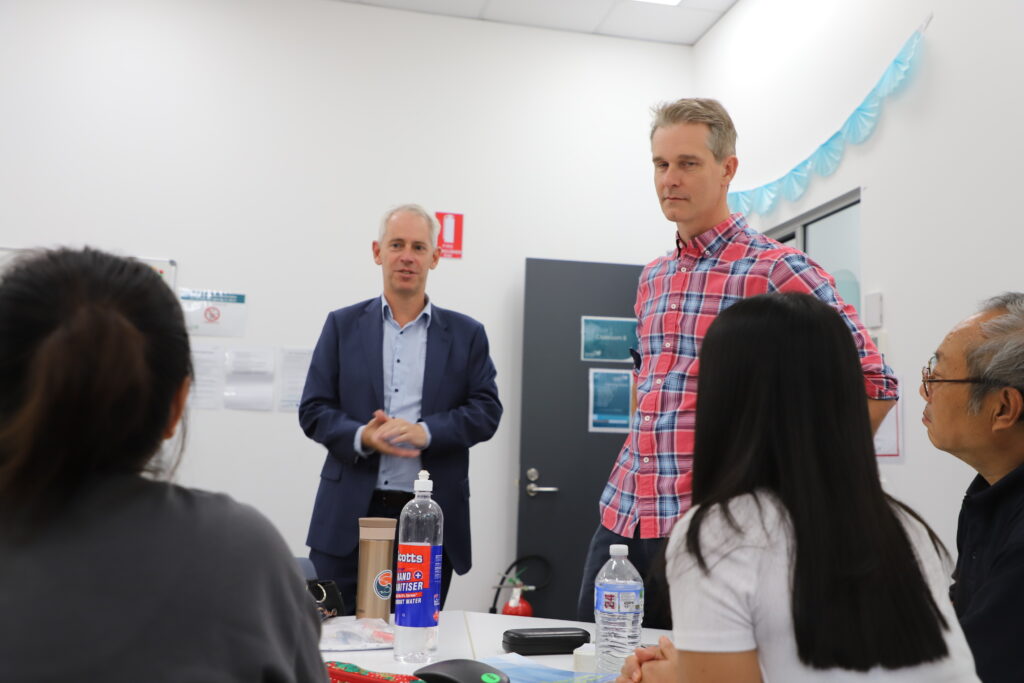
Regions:
[[[0,246],[175,258],[180,285],[249,296],[240,344],[311,347],[380,292],[388,206],[465,213],[428,292],[486,326],[506,407],[473,450],[474,568],[450,600],[483,609],[515,552],[524,259],[671,246],[647,111],[691,89],[686,48],[332,0],[5,0]],[[179,480],[304,553],[323,449],[295,416],[189,421]]]

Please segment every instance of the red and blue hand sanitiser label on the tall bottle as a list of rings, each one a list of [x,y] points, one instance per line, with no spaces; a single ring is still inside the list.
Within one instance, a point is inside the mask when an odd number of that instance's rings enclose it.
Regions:
[[[398,544],[394,586],[397,626],[437,626],[441,605],[441,547]]]

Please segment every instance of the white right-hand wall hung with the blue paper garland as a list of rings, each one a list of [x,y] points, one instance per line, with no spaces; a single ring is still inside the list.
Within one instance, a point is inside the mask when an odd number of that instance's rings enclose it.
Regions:
[[[887,359],[904,380],[905,461],[890,490],[953,549],[974,472],[928,440],[920,368],[981,299],[1024,288],[1016,198],[1024,174],[1015,85],[1024,5],[1012,0],[740,0],[694,50],[700,93],[740,133],[733,189],[783,175],[839,129],[903,42],[934,13],[916,74],[864,144],[753,222],[766,229],[862,187],[861,287],[885,297]],[[799,17],[799,19],[798,19]]]

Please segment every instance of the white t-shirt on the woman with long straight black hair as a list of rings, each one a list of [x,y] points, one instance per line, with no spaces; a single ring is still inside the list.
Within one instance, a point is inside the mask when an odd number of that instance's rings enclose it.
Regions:
[[[791,529],[787,513],[767,494],[730,501],[729,511],[742,532],[725,519],[721,508],[700,526],[701,550],[710,573],[686,552],[686,529],[696,507],[676,524],[668,547],[673,638],[678,648],[697,652],[758,650],[765,683],[838,681],[978,681],[974,658],[949,602],[949,572],[932,546],[928,531],[902,512],[903,521],[932,595],[949,625],[949,656],[904,669],[876,667],[868,672],[812,669],[797,654],[793,628]]]

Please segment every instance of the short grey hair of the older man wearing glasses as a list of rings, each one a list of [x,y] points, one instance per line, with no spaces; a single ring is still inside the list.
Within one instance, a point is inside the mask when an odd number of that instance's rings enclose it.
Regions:
[[[981,410],[981,401],[993,388],[1009,386],[1024,392],[1024,294],[1007,292],[981,304],[982,313],[997,311],[1002,315],[982,324],[981,343],[967,353],[968,375],[985,381],[971,386],[972,413]]]

